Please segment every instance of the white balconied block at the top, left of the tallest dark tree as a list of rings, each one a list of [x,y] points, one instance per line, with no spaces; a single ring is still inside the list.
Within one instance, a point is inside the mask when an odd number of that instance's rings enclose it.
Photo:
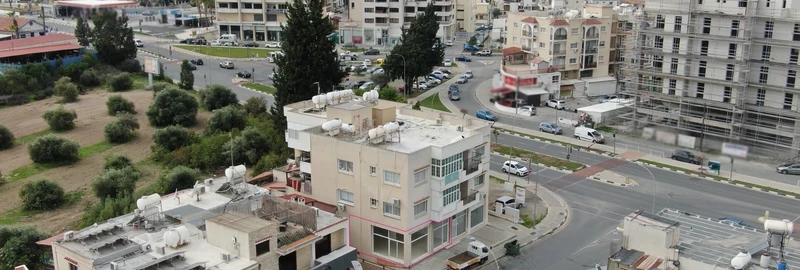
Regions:
[[[219,34],[246,41],[280,41],[290,2],[276,0],[217,0]]]

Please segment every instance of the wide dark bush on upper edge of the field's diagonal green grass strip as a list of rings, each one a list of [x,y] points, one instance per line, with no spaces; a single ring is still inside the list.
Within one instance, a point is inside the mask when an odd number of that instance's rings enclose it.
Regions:
[[[49,134],[28,145],[28,155],[36,163],[72,162],[78,160],[78,143]]]

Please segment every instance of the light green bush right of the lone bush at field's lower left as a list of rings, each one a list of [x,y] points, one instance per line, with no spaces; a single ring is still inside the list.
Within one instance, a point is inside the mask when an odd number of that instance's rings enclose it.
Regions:
[[[100,199],[118,198],[133,193],[140,174],[133,167],[110,169],[92,181],[92,191]]]

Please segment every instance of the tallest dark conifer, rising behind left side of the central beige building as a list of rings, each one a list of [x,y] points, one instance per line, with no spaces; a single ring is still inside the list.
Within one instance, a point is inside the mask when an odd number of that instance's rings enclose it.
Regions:
[[[276,94],[271,115],[278,130],[286,129],[284,106],[311,99],[317,94],[317,83],[321,89],[332,89],[345,76],[339,68],[336,44],[328,38],[334,28],[320,12],[323,6],[323,0],[296,0],[286,12],[287,20],[281,26],[284,55],[275,61],[278,72],[273,79]]]

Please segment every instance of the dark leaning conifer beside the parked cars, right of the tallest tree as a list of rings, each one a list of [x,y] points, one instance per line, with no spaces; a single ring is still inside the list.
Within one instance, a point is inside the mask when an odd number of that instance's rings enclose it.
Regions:
[[[389,78],[405,79],[404,89],[412,89],[413,78],[427,75],[444,60],[445,47],[436,38],[439,22],[436,21],[434,10],[433,4],[429,3],[425,13],[417,15],[411,26],[400,36],[400,45],[392,48],[391,54],[383,63],[383,69]]]

